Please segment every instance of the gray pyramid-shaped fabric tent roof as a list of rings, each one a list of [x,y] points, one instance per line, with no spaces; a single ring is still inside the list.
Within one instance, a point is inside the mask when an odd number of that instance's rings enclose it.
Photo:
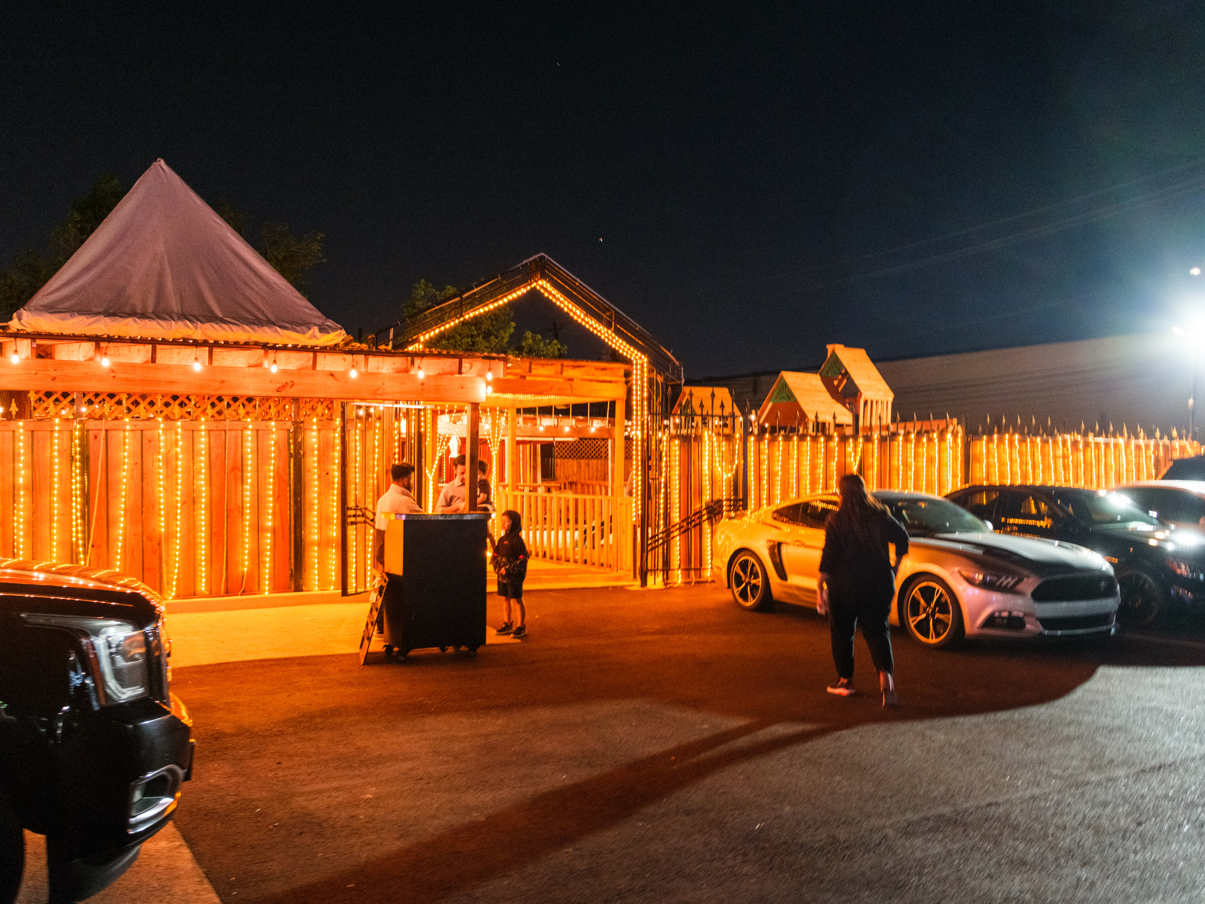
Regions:
[[[10,328],[323,346],[347,335],[163,160],[13,315]]]

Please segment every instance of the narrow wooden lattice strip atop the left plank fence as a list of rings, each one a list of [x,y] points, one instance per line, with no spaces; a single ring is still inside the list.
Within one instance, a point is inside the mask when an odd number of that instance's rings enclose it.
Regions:
[[[96,421],[293,421],[293,399],[257,395],[166,395],[163,393],[83,393],[89,419]],[[300,399],[302,421],[334,419],[331,399]],[[30,392],[30,415],[35,421],[71,417],[75,393]]]

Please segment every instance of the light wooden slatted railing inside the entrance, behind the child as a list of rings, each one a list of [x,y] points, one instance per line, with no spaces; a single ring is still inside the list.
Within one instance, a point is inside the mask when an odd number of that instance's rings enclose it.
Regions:
[[[511,509],[523,518],[523,539],[534,559],[631,568],[630,500],[616,510],[613,497],[569,493],[498,492],[499,511]]]

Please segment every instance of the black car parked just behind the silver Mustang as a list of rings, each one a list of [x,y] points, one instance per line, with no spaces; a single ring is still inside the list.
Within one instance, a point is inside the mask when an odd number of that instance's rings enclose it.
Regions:
[[[1113,565],[1117,620],[1152,624],[1172,603],[1205,604],[1205,546],[1121,493],[1075,487],[976,486],[948,497],[1005,534],[1087,546]]]

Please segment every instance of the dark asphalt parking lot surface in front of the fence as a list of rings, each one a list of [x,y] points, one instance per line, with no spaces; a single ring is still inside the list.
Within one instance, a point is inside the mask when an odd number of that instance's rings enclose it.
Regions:
[[[884,712],[824,693],[828,630],[804,610],[703,587],[533,593],[529,614],[529,639],[475,659],[178,669],[199,747],[177,824],[222,900],[1205,894],[1188,633],[897,636]]]

